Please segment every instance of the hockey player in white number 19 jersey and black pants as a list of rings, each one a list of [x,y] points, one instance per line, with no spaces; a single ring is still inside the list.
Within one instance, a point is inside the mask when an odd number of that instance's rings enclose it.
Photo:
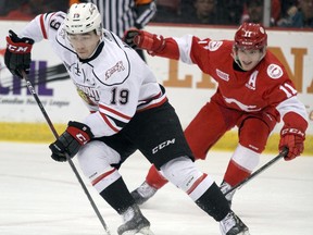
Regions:
[[[164,87],[135,50],[102,28],[95,4],[40,14],[18,35],[10,30],[4,62],[12,74],[23,78],[22,71],[29,72],[32,46],[42,39],[50,41],[90,111],[82,122],[68,122],[49,146],[52,158],[62,162],[77,153],[85,176],[122,215],[118,235],[152,234],[118,172],[136,150],[220,222],[223,235],[249,234],[212,177],[196,168]]]

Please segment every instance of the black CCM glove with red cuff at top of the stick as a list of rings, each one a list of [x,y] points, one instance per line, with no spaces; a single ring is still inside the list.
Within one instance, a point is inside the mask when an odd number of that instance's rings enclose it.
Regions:
[[[26,74],[29,73],[33,45],[33,39],[26,37],[20,38],[13,30],[9,30],[4,63],[13,75],[23,78],[22,71],[25,71]]]

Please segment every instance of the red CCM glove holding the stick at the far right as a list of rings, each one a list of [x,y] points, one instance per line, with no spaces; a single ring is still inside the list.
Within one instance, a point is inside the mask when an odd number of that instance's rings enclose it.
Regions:
[[[303,152],[304,139],[305,134],[300,129],[283,127],[280,131],[279,151],[284,147],[288,148],[288,154],[285,157],[286,161],[292,160]]]

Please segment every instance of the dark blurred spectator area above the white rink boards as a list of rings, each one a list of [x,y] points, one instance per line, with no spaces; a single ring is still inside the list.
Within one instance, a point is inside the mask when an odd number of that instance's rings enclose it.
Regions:
[[[0,0],[1,20],[30,20],[42,12],[66,11],[78,0]],[[313,0],[155,0],[152,23],[313,28]]]

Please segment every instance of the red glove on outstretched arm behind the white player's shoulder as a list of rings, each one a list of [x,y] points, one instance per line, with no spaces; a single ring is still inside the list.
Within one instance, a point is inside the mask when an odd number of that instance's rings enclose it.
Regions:
[[[132,48],[145,49],[150,54],[158,53],[165,47],[163,36],[138,29],[125,32],[123,40]]]

